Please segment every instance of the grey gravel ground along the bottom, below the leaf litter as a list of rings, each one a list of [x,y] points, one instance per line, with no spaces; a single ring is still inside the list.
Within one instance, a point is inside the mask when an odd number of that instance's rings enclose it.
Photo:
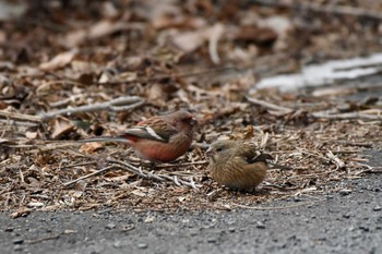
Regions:
[[[371,154],[381,165],[381,153]],[[334,193],[266,204],[282,209],[105,209],[17,219],[0,214],[0,247],[1,253],[382,253],[381,182],[382,174],[370,174],[333,183],[339,190]]]

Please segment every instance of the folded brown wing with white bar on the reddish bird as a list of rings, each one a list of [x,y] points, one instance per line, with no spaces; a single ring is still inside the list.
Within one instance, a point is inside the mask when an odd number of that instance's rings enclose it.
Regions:
[[[152,118],[128,129],[121,136],[139,137],[168,143],[177,130],[160,118]]]

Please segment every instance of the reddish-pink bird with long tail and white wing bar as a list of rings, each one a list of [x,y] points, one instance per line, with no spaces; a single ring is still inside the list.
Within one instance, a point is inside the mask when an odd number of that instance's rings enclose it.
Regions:
[[[80,142],[124,142],[142,159],[152,162],[168,162],[188,152],[196,120],[190,112],[180,110],[152,117],[128,129],[119,136],[99,136]]]

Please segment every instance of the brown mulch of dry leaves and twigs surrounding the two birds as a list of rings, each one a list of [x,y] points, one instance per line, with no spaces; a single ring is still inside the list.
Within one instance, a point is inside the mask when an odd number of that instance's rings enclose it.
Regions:
[[[1,210],[231,209],[315,201],[344,179],[380,172],[363,155],[381,143],[378,101],[249,90],[301,64],[380,50],[382,7],[52,2],[0,23]],[[199,126],[193,149],[172,164],[152,169],[124,145],[76,143],[181,108]],[[204,147],[222,135],[251,138],[275,158],[254,193],[210,179]]]

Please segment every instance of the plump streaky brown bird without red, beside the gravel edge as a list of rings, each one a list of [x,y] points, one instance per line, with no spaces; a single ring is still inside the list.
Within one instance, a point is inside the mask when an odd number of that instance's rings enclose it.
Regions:
[[[268,154],[262,154],[253,143],[246,141],[220,140],[211,144],[211,177],[229,189],[254,189],[265,178]]]

